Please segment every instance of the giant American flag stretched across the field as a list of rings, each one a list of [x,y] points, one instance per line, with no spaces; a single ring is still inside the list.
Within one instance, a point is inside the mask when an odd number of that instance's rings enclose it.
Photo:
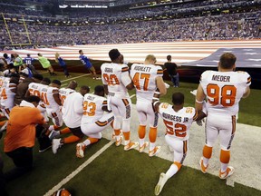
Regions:
[[[93,60],[110,61],[109,51],[118,48],[128,63],[143,63],[146,55],[154,54],[157,64],[164,64],[167,55],[172,61],[189,66],[217,66],[220,54],[229,52],[236,54],[237,67],[261,67],[261,40],[245,41],[190,41],[173,43],[140,43],[140,44],[102,44],[102,45],[73,45],[53,48],[22,49],[2,51],[3,54],[17,53],[21,57],[31,54],[37,58],[41,53],[44,57],[54,59],[59,53],[64,60],[79,60],[79,50]]]

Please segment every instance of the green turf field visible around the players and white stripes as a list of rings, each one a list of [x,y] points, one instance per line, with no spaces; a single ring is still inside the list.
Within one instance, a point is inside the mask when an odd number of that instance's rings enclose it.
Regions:
[[[81,75],[82,73],[72,73],[73,77]],[[71,80],[64,78],[63,73],[59,73],[57,78],[63,81],[63,84],[69,83]],[[83,84],[91,86],[91,92],[97,84],[102,84],[102,81],[92,80],[91,76],[83,76],[73,80],[76,80],[79,86]],[[166,83],[170,82],[167,81]],[[170,103],[171,93],[179,91],[185,94],[186,106],[193,106],[195,97],[189,92],[196,89],[197,86],[196,83],[180,83],[179,88],[170,87],[168,93],[161,98],[161,102]],[[130,94],[133,93],[135,92],[131,91]],[[246,100],[241,101],[238,122],[255,126],[261,125],[259,121],[260,109],[256,107],[256,105],[259,105],[257,98],[260,96],[260,90],[252,90],[251,95]],[[136,99],[133,98],[132,101],[132,103],[135,103]],[[52,150],[39,153],[36,142],[34,171],[9,182],[6,189],[11,196],[44,195],[109,142],[102,139],[100,142],[89,146],[83,159],[75,156],[74,143],[63,145],[63,148],[53,155]],[[0,148],[5,162],[4,171],[8,171],[14,167],[14,164],[3,152],[3,139],[0,141]],[[123,146],[116,147],[112,144],[93,162],[66,182],[63,187],[75,196],[150,196],[154,195],[154,187],[159,180],[160,172],[166,171],[170,164],[171,162],[159,157],[150,158],[146,153],[124,152]],[[202,174],[201,171],[184,166],[173,178],[169,179],[160,195],[253,196],[261,195],[261,191],[238,183],[235,183],[235,187],[230,187],[227,186],[226,181],[220,181],[217,176]]]

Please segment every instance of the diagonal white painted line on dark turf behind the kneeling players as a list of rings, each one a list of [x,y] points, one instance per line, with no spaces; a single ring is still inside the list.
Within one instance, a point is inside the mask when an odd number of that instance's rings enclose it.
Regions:
[[[98,152],[94,153],[92,157],[90,157],[86,162],[83,162],[75,171],[73,171],[70,175],[60,181],[56,186],[53,187],[50,191],[46,192],[43,196],[52,196],[53,192],[58,191],[65,183],[71,181],[75,175],[77,175],[80,171],[82,171],[87,165],[89,165],[93,160],[95,160],[98,156],[102,154],[102,152],[106,151],[113,142],[109,142],[102,147]]]

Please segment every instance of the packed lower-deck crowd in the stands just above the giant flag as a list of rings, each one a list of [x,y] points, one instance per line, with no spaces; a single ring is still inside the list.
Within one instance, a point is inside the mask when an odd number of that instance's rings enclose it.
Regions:
[[[261,12],[115,25],[27,25],[31,43],[119,44],[258,37]],[[29,43],[24,25],[10,23],[13,44]],[[1,44],[11,44],[7,31]]]

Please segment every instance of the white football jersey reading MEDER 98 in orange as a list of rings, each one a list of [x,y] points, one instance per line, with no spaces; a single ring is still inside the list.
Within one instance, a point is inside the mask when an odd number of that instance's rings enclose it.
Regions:
[[[201,75],[200,84],[207,95],[208,113],[236,115],[251,77],[246,72],[206,71]]]

